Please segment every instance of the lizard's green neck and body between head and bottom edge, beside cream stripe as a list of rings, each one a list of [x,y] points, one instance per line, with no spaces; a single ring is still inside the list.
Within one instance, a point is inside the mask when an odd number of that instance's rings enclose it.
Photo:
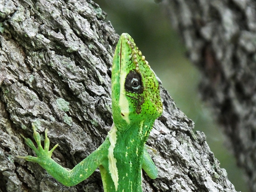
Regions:
[[[143,148],[153,122],[148,119],[142,120],[124,131],[116,131],[113,154],[118,170],[118,191],[142,192]]]

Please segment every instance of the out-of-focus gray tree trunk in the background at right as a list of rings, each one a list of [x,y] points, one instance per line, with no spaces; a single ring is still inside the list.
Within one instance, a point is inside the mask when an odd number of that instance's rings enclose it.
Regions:
[[[188,57],[203,74],[202,98],[256,191],[256,2],[163,0]]]

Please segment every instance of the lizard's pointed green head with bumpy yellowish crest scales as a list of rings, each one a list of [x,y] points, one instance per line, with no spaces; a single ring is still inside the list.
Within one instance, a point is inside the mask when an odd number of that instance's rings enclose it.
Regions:
[[[112,114],[117,129],[141,121],[153,122],[163,112],[155,73],[123,33],[116,45],[112,66]]]

